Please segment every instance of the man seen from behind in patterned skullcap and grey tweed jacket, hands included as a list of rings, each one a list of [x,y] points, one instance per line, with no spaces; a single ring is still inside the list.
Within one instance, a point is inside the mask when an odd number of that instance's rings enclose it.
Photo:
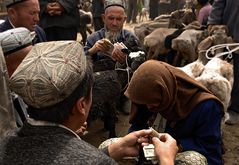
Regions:
[[[34,45],[9,84],[29,105],[29,118],[1,143],[0,164],[117,164],[123,157],[138,156],[140,146],[149,142],[152,130],[136,131],[102,152],[76,134],[87,119],[93,85],[91,61],[76,41]],[[163,136],[173,160],[176,141]]]

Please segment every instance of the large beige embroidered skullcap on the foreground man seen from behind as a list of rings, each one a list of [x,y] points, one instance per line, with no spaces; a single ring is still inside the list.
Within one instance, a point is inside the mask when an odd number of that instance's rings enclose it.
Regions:
[[[10,88],[35,108],[52,106],[79,86],[86,67],[83,47],[77,41],[38,43],[11,76]]]

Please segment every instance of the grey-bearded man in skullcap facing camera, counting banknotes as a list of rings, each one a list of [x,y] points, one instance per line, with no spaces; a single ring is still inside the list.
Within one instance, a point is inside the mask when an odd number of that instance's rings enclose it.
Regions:
[[[92,33],[86,41],[85,53],[91,56],[93,61],[108,58],[123,63],[126,53],[121,50],[122,44],[130,51],[139,50],[138,38],[130,31],[123,29],[126,20],[124,0],[105,0],[102,19],[104,28]]]

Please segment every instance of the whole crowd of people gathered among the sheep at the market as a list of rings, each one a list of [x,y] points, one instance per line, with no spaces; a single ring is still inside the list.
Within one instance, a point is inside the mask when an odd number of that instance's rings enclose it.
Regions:
[[[177,164],[180,153],[181,162],[192,157],[223,164],[221,101],[183,71],[156,60],[140,65],[124,92],[131,101],[128,134],[102,149],[81,139],[94,63],[110,58],[123,64],[129,52],[142,50],[135,34],[124,29],[125,22],[136,23],[135,2],[127,1],[126,12],[124,0],[93,0],[95,32],[82,45],[76,41],[77,1],[7,1],[8,17],[0,24],[0,164],[117,164],[142,156],[150,143],[161,165]],[[239,2],[198,2],[199,22],[208,29],[227,25],[238,42]],[[226,124],[239,123],[237,54],[233,64]],[[155,135],[148,128],[159,115],[166,123],[164,133]]]

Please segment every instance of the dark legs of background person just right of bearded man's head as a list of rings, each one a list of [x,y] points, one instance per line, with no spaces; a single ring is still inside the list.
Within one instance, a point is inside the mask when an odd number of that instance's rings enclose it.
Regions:
[[[136,17],[138,14],[137,2],[138,0],[128,0],[126,23],[130,23],[130,21],[132,21],[132,23],[136,23]]]

